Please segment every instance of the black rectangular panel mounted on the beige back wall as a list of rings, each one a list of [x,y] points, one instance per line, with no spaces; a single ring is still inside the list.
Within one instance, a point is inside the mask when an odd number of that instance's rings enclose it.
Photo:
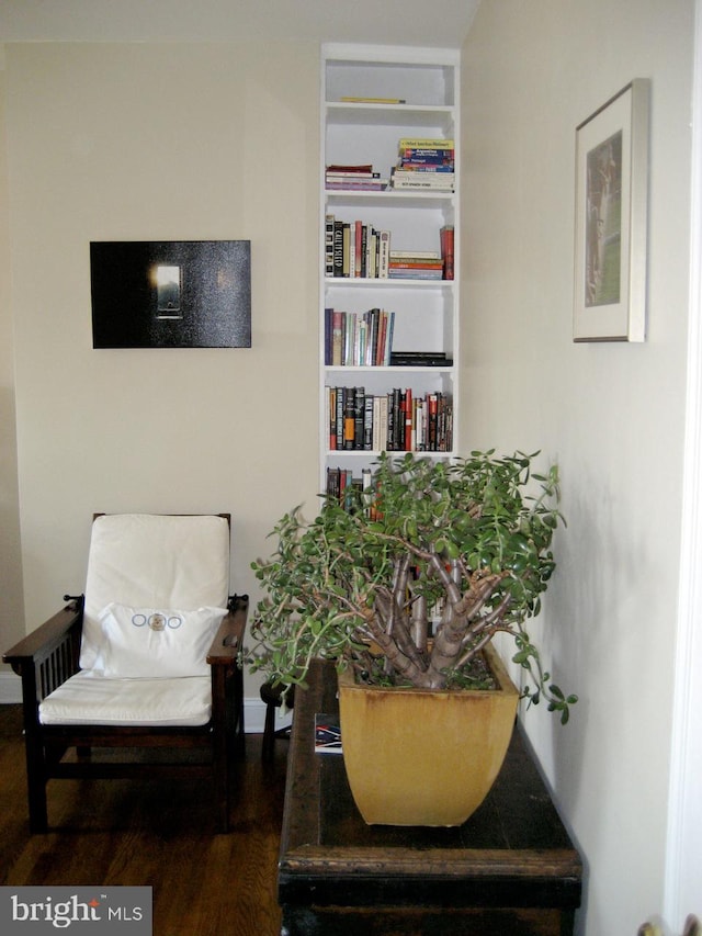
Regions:
[[[93,348],[250,348],[250,240],[93,240]]]

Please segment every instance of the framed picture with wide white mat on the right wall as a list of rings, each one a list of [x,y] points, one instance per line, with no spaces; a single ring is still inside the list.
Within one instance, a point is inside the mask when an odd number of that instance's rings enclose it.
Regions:
[[[574,341],[644,341],[649,82],[576,128]]]

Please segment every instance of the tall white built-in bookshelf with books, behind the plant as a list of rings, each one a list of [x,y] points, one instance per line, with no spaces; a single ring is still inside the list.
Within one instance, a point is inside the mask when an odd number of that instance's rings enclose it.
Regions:
[[[457,449],[458,88],[454,50],[322,48],[320,490]]]

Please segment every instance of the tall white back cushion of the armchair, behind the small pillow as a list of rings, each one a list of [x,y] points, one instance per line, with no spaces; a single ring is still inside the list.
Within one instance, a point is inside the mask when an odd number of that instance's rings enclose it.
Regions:
[[[92,525],[80,652],[102,672],[100,612],[131,608],[224,608],[229,588],[229,525],[224,517],[114,514]]]

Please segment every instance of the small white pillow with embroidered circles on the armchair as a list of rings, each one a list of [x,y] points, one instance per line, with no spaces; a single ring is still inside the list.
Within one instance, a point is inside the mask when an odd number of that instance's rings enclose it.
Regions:
[[[99,614],[111,678],[207,676],[207,651],[226,608],[173,611],[112,602]]]

